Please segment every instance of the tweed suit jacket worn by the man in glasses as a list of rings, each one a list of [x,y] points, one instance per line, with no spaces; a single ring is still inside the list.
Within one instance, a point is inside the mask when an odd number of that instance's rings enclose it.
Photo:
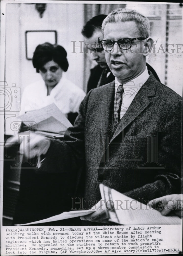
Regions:
[[[89,201],[101,198],[99,183],[137,200],[180,193],[181,97],[151,74],[116,130],[113,102],[114,83],[91,90],[41,169],[83,178]]]

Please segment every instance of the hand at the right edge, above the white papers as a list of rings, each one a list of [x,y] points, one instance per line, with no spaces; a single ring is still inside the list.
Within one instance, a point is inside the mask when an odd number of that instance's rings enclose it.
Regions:
[[[182,217],[182,194],[166,195],[149,201],[151,207],[161,211],[163,216],[170,212],[178,217]],[[158,206],[160,209],[158,209]]]

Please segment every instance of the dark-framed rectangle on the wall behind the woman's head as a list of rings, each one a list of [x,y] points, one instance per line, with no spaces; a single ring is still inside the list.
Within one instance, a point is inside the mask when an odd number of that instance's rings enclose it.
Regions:
[[[49,42],[57,43],[56,30],[27,30],[25,31],[26,59],[32,60],[36,46]]]

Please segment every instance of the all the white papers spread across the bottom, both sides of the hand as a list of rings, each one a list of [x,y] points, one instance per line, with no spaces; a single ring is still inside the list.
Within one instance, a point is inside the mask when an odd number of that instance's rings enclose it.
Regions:
[[[128,196],[125,196],[115,189],[111,189],[100,184],[100,193],[105,206],[105,211],[109,221],[122,225],[150,225],[150,224],[181,224],[181,219],[177,216],[162,216],[161,213],[148,205],[142,204]],[[92,207],[89,210],[76,210],[63,212],[47,219],[34,221],[26,224],[17,224],[16,226],[27,226],[51,221],[64,220],[74,217],[81,217],[92,214],[95,211],[104,209]]]

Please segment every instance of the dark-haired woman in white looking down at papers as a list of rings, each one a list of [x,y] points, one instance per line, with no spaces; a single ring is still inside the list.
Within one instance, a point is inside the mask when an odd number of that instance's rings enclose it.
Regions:
[[[69,66],[65,49],[48,42],[38,45],[32,63],[42,80],[25,88],[21,98],[20,115],[55,103],[73,123],[86,94],[65,77]]]

